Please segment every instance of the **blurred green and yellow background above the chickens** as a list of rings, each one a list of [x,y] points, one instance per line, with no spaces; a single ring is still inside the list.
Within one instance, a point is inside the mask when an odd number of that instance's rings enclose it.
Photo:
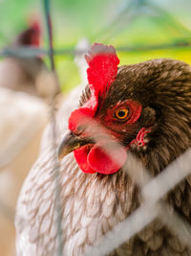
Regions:
[[[86,37],[91,43],[130,47],[129,51],[117,52],[121,64],[150,58],[191,63],[190,46],[136,49],[184,41],[191,44],[190,0],[54,0],[51,7],[55,49],[74,48],[80,38]],[[0,0],[0,47],[8,46],[32,15],[44,21],[43,1]],[[47,45],[45,32],[43,47]],[[73,55],[56,56],[55,63],[63,91],[79,83]]]

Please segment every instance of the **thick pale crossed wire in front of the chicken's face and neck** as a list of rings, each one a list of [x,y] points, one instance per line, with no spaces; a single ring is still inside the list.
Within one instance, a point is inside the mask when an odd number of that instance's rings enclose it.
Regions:
[[[105,128],[96,124],[94,120],[83,116],[83,122],[86,125],[88,123],[91,127],[86,130],[89,132],[89,135],[94,137],[99,131],[108,142],[112,140],[114,147],[118,147],[117,142],[113,141]],[[96,137],[94,137],[94,139],[96,140]],[[109,147],[106,146],[102,148],[102,150],[113,158],[116,163],[120,162]],[[190,224],[181,220],[178,213],[176,213],[170,205],[161,200],[170,190],[178,185],[182,179],[191,174],[191,150],[185,151],[177,160],[163,170],[160,175],[154,178],[149,175],[149,170],[146,170],[131,153],[128,153],[128,161],[122,169],[123,172],[127,172],[128,175],[133,177],[136,181],[141,189],[144,202],[125,221],[120,222],[112,231],[109,231],[99,244],[96,244],[96,246],[88,250],[86,256],[105,255],[111,252],[113,249],[117,248],[118,245],[128,241],[157,217],[191,250]]]

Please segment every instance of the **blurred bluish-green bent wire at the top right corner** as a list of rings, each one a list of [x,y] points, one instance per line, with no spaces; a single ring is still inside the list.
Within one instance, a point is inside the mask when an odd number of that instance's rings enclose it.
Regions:
[[[117,9],[116,15],[112,18],[104,28],[93,35],[92,38],[95,40],[109,41],[113,36],[116,36],[121,31],[126,30],[136,19],[144,14],[152,16],[160,16],[161,22],[165,26],[169,26],[173,31],[179,32],[180,34],[190,34],[190,30],[185,28],[180,22],[169,12],[159,7],[155,3],[151,3],[149,0],[125,0],[122,5]],[[155,20],[155,19],[154,19]],[[172,33],[172,30],[169,31]]]

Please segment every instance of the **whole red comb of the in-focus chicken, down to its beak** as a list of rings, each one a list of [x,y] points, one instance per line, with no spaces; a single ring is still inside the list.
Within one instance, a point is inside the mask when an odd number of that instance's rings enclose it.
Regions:
[[[94,117],[98,105],[98,96],[104,94],[117,76],[116,50],[113,46],[95,43],[88,55],[85,56],[89,68],[87,69],[88,81],[90,83],[91,98],[83,106],[74,110],[69,118],[69,129],[75,131],[83,116]]]

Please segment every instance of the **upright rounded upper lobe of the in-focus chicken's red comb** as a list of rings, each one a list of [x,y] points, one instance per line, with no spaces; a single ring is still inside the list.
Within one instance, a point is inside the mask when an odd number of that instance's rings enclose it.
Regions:
[[[85,58],[89,64],[87,75],[91,87],[94,87],[96,95],[104,93],[117,76],[119,59],[115,48],[95,43]]]

